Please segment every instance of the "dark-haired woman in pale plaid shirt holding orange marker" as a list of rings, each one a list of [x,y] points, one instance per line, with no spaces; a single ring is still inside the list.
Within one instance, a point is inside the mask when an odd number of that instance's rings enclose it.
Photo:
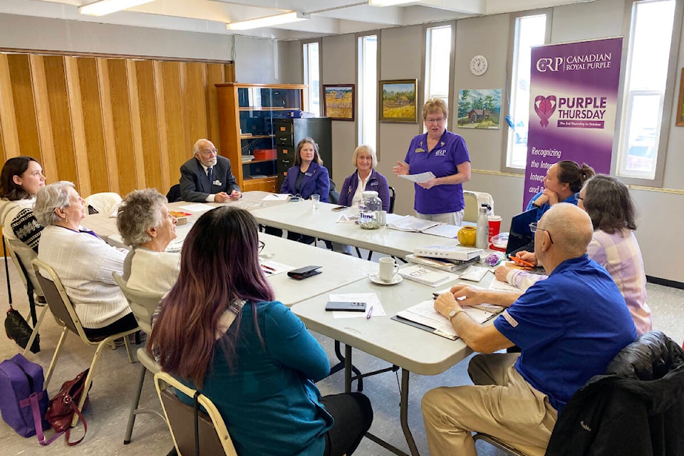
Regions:
[[[620,289],[639,335],[653,329],[651,309],[646,304],[646,272],[641,249],[634,236],[636,207],[623,182],[608,175],[596,175],[576,195],[577,206],[584,209],[594,225],[594,237],[587,247],[589,258],[601,264]],[[537,224],[531,224],[532,232]],[[549,233],[550,235],[551,233]],[[551,242],[553,238],[550,237]],[[532,252],[519,252],[524,261],[537,264]],[[546,276],[529,274],[507,265],[499,266],[497,279],[508,281],[522,291]]]

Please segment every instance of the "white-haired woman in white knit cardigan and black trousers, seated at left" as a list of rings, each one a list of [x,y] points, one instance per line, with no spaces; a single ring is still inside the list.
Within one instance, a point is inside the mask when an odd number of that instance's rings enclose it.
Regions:
[[[41,188],[33,213],[43,227],[38,259],[56,271],[89,338],[107,337],[138,327],[114,281],[125,254],[81,227],[85,200],[73,183]]]

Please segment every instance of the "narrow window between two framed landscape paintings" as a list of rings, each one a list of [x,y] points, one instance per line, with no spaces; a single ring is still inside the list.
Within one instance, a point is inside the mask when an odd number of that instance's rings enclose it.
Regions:
[[[378,36],[358,38],[358,143],[377,150]]]

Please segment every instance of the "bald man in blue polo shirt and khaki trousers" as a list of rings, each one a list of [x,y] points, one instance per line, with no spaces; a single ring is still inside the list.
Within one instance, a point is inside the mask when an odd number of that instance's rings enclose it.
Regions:
[[[591,219],[574,204],[554,204],[534,232],[534,252],[549,279],[517,293],[457,285],[435,300],[462,340],[481,353],[517,345],[522,353],[472,358],[474,386],[442,387],[423,397],[432,456],[476,456],[471,431],[494,435],[527,455],[544,455],[564,405],[606,370],[636,328],[618,287],[586,256]],[[494,324],[461,306],[506,306]]]

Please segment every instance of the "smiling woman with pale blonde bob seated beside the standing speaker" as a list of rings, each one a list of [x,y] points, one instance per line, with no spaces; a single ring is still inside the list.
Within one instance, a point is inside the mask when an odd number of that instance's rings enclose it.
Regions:
[[[369,145],[362,144],[354,150],[351,164],[356,167],[356,172],[348,176],[340,187],[340,204],[343,206],[358,207],[363,192],[378,192],[378,197],[383,200],[383,210],[390,209],[390,187],[387,179],[375,171],[378,165],[378,157],[375,150]]]

